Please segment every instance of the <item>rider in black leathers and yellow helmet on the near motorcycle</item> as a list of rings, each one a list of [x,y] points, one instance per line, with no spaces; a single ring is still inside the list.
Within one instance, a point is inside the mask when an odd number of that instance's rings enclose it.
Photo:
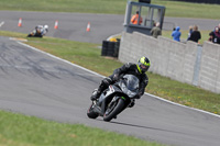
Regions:
[[[151,66],[151,63],[147,57],[141,57],[138,60],[138,64],[132,64],[132,63],[124,64],[122,67],[116,69],[111,76],[105,78],[101,81],[98,90],[92,93],[90,98],[91,101],[97,100],[103,90],[106,90],[110,85],[114,83],[116,81],[120,79],[120,77],[127,74],[134,75],[135,77],[139,78],[140,89],[135,99],[140,99],[144,94],[145,87],[148,83],[148,77],[146,76],[145,71],[148,70],[150,66]],[[134,105],[134,101],[130,105],[130,108],[133,105]]]

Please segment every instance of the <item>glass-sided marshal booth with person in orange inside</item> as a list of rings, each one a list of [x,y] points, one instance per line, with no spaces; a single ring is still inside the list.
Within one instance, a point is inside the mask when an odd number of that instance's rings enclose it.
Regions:
[[[124,31],[150,35],[156,22],[163,27],[165,7],[151,4],[151,0],[128,1],[124,18]]]

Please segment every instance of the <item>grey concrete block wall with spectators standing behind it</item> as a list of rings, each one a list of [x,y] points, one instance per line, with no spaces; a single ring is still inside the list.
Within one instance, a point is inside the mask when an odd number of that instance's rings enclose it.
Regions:
[[[220,93],[220,45],[205,42],[201,47],[190,41],[123,32],[119,60],[136,63],[142,56],[150,58],[154,74]]]

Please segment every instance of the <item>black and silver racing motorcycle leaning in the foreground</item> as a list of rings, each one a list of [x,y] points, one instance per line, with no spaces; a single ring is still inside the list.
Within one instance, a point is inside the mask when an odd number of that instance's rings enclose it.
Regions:
[[[97,90],[94,91],[94,93]],[[119,81],[110,85],[99,97],[92,101],[87,111],[90,119],[103,116],[103,121],[116,119],[125,108],[134,103],[139,93],[139,79],[133,75],[124,75]]]

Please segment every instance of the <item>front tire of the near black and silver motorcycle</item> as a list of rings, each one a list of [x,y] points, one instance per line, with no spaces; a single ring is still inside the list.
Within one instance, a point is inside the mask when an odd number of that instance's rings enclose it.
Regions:
[[[113,117],[117,117],[117,115],[124,110],[125,101],[123,99],[119,99],[116,104],[111,104],[107,108],[105,114],[103,114],[103,121],[109,122]],[[110,111],[108,111],[110,110]]]

